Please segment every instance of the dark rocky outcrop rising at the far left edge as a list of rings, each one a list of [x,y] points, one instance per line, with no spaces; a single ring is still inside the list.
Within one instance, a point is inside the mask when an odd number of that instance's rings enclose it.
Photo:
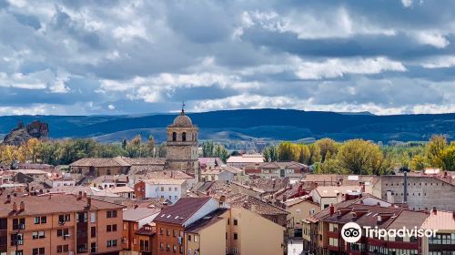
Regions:
[[[35,120],[25,127],[24,123],[19,122],[17,127],[5,136],[3,144],[19,146],[31,138],[44,139],[48,135],[49,127],[47,123]]]

